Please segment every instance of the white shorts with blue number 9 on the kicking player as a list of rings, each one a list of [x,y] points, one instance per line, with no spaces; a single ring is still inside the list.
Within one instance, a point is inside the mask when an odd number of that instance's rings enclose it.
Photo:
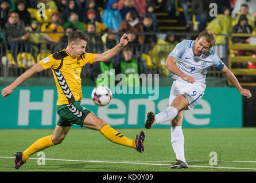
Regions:
[[[203,97],[204,90],[204,84],[174,81],[170,89],[169,106],[174,98],[183,95],[189,102],[188,109],[192,109]]]

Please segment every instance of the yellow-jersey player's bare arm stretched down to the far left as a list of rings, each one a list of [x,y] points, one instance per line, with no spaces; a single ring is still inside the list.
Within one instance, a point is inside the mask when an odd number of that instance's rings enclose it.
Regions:
[[[39,73],[40,71],[44,70],[40,63],[36,63],[31,67],[29,70],[25,71],[25,73],[21,74],[20,77],[18,77],[11,85],[5,87],[2,89],[2,96],[3,98],[6,98],[9,96],[13,90],[19,86],[22,82],[26,81],[26,79],[30,78],[33,74]]]

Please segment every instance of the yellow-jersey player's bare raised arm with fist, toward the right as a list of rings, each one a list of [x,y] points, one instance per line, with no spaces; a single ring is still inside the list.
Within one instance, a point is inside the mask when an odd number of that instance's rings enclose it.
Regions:
[[[123,49],[123,47],[125,47],[127,45],[129,40],[130,40],[130,37],[127,34],[123,34],[118,45],[113,47],[113,49],[105,51],[102,54],[97,54],[94,59],[94,62],[109,61],[111,58],[115,57],[115,55],[117,55]]]

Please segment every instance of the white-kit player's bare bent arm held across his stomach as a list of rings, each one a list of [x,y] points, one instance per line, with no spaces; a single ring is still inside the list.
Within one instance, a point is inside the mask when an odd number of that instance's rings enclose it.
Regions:
[[[195,78],[193,76],[185,75],[182,71],[180,71],[180,69],[176,66],[176,61],[176,58],[169,56],[165,62],[166,69],[173,74],[179,75],[179,77],[183,78],[187,82],[195,82]]]

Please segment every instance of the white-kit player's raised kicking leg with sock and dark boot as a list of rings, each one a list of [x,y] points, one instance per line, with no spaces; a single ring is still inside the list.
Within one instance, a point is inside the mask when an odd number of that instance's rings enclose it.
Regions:
[[[150,129],[155,124],[161,124],[162,122],[173,120],[180,110],[187,109],[188,104],[189,103],[186,97],[183,95],[177,96],[167,109],[156,114],[156,116],[154,116],[153,112],[149,112],[145,122],[145,128]]]

